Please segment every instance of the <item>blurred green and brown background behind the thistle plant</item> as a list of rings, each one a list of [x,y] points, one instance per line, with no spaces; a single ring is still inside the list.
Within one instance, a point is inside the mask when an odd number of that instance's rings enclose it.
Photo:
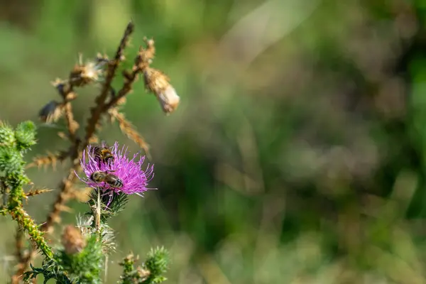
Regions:
[[[165,116],[141,80],[128,97],[159,190],[112,219],[107,283],[156,245],[168,283],[426,283],[426,1],[1,0],[0,119],[38,121],[50,82],[111,56],[130,18],[124,67],[153,37],[182,102]],[[81,124],[98,89],[79,90]],[[40,124],[28,160],[66,148],[63,128]],[[99,137],[140,150],[115,124]],[[55,189],[67,165],[28,175]],[[43,222],[57,193],[28,212]],[[62,224],[87,208],[68,205]],[[3,280],[16,224],[0,222]]]

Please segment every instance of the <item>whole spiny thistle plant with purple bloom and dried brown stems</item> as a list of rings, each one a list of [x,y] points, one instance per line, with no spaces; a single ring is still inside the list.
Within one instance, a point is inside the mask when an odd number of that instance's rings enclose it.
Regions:
[[[108,221],[125,209],[131,195],[143,197],[150,189],[154,175],[153,165],[145,163],[151,159],[149,146],[121,112],[126,95],[131,92],[133,83],[143,77],[146,90],[152,92],[160,102],[160,109],[169,115],[178,107],[180,98],[170,84],[170,79],[160,70],[151,67],[155,56],[152,39],[144,38],[145,46],[138,50],[131,70],[124,70],[124,84],[114,89],[111,83],[118,76],[117,68],[126,58],[124,49],[133,33],[130,22],[124,31],[114,58],[97,55],[93,60],[83,62],[82,56],[71,70],[66,80],[57,79],[53,86],[60,99],[54,99],[40,109],[39,117],[43,124],[65,123],[66,131],[58,135],[69,141],[66,149],[38,156],[26,164],[26,153],[36,141],[36,124],[24,121],[16,127],[0,121],[0,193],[3,202],[0,212],[10,216],[18,224],[16,232],[16,271],[11,275],[11,283],[29,282],[37,279],[55,280],[56,283],[103,283],[107,256],[115,251],[114,230]],[[84,131],[75,119],[72,102],[78,98],[76,89],[90,84],[98,84],[100,92],[89,109]],[[109,147],[99,141],[102,124],[109,119],[118,122],[121,131],[133,140],[143,153],[128,151],[126,146],[115,142]],[[147,158],[148,157],[148,158]],[[70,168],[58,185],[56,198],[47,219],[37,224],[26,213],[24,201],[34,195],[52,192],[38,189],[26,175],[26,169],[38,166],[53,167],[56,163],[70,160]],[[53,244],[50,235],[57,224],[66,203],[81,195],[78,187],[88,187],[89,201],[87,212],[77,217],[77,224],[64,224],[60,244]],[[29,190],[28,190],[28,187]],[[25,247],[23,238],[30,241]],[[138,248],[140,249],[140,248]],[[41,258],[40,266],[35,266],[35,257]],[[161,283],[166,280],[168,252],[164,248],[151,249],[146,260],[138,263],[131,253],[120,263],[123,273],[119,283]],[[40,276],[40,278],[38,278]]]

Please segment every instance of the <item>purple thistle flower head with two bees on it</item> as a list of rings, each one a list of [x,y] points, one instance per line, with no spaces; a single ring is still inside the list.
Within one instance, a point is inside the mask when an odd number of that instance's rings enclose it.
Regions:
[[[143,196],[143,192],[149,190],[146,186],[154,176],[154,165],[148,164],[146,170],[142,170],[141,168],[145,156],[136,153],[133,155],[133,158],[129,160],[129,158],[127,158],[127,148],[123,146],[123,148],[119,150],[119,143],[117,142],[114,143],[114,146],[111,148],[110,150],[114,156],[114,160],[109,163],[104,163],[94,157],[94,146],[87,146],[87,150],[83,151],[83,157],[80,160],[80,164],[82,165],[87,179],[82,179],[78,175],[77,177],[82,180],[87,187],[99,188],[106,194],[123,192],[126,195],[136,193],[136,195]],[[112,187],[107,182],[94,182],[90,177],[92,173],[97,171],[115,175],[116,178],[121,180],[123,185],[121,187]]]

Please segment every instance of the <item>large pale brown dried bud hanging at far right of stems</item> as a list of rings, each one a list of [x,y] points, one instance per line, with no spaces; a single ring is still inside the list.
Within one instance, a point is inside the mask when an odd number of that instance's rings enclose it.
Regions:
[[[165,114],[171,114],[178,108],[180,97],[170,84],[170,79],[163,72],[148,67],[143,70],[143,80],[146,89],[157,97]]]

